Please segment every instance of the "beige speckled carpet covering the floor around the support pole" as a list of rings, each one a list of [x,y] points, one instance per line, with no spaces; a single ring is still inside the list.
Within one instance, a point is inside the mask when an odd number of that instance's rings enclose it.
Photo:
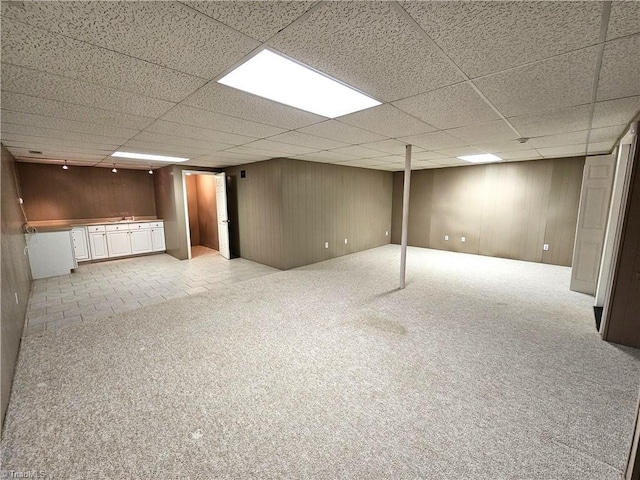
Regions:
[[[3,470],[619,479],[637,350],[568,268],[399,247],[24,339]]]

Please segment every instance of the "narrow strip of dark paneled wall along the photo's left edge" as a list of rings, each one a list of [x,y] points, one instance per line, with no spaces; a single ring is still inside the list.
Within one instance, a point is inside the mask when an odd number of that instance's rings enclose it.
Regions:
[[[24,217],[18,203],[18,186],[15,182],[16,162],[9,151],[2,147],[2,387],[0,428],[9,404],[13,373],[18,359],[20,339],[27,312],[27,300],[31,290],[29,257],[25,252],[22,232]],[[16,294],[18,302],[16,303]]]

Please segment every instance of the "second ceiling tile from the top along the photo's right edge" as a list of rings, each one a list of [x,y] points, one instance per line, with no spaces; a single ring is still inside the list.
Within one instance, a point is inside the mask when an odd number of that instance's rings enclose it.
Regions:
[[[640,34],[607,42],[602,56],[598,100],[640,95]]]

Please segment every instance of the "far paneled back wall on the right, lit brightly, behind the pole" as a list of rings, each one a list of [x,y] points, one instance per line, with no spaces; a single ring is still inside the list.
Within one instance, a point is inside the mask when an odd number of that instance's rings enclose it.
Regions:
[[[583,166],[578,157],[414,171],[408,243],[571,265]],[[394,174],[393,243],[400,243],[403,178]]]

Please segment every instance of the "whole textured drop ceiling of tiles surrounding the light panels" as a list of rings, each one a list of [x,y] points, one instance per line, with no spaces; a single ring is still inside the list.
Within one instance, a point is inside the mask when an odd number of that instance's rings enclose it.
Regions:
[[[265,47],[382,105],[328,119],[216,82]],[[97,166],[601,154],[638,116],[638,72],[640,2],[2,1],[1,141]]]

